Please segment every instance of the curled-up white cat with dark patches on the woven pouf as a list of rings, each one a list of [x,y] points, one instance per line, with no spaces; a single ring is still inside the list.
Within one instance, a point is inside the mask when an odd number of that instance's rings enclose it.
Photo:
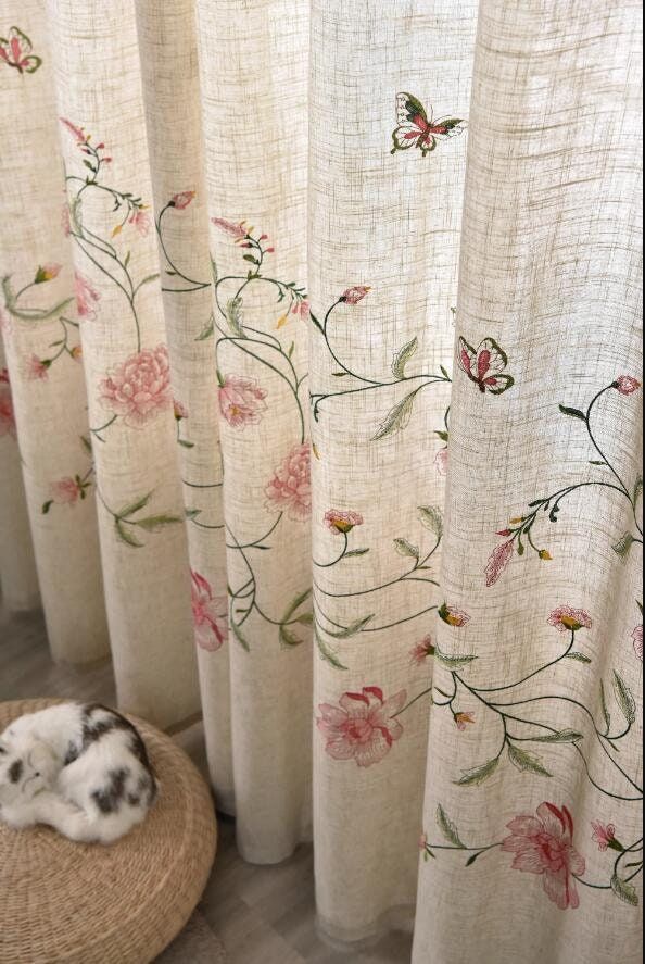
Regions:
[[[98,703],[61,703],[0,736],[0,819],[37,823],[72,840],[113,843],[144,819],[159,792],[132,724]]]

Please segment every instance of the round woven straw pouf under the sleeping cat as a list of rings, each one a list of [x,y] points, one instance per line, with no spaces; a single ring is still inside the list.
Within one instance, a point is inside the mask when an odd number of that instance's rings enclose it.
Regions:
[[[52,702],[0,703],[0,731]],[[215,855],[211,796],[169,737],[135,723],[161,794],[131,834],[112,847],[86,846],[48,827],[0,824],[1,964],[144,964],[194,910]]]

